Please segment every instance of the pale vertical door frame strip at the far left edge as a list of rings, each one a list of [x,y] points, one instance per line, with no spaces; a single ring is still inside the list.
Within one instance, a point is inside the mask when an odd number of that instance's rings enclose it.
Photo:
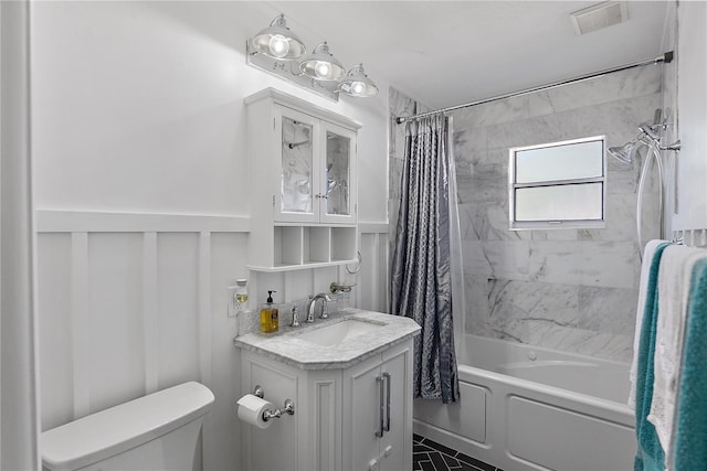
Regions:
[[[39,468],[28,2],[0,2],[0,469]]]

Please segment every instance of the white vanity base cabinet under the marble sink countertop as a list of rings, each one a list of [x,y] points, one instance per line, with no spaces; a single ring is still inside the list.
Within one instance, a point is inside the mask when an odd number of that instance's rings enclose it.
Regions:
[[[267,429],[243,425],[247,470],[412,469],[412,339],[342,370],[298,370],[243,351],[243,394],[295,415]]]

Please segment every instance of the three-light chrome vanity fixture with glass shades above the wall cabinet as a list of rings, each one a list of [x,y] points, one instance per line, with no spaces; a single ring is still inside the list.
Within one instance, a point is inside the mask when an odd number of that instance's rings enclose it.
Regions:
[[[331,54],[326,42],[318,44],[304,58],[305,44],[293,33],[285,15],[275,18],[270,26],[246,43],[247,64],[276,75],[304,88],[338,101],[340,93],[357,98],[376,96],[378,87],[358,64],[347,73]],[[298,62],[302,61],[302,62]]]

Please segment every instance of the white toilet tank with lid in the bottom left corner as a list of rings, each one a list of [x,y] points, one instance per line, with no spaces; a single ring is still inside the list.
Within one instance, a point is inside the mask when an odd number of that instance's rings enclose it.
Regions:
[[[42,433],[49,470],[192,470],[211,390],[184,383]]]

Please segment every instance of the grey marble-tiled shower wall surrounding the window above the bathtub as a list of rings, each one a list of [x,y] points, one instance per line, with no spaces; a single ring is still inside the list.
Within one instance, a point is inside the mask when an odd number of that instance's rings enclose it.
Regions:
[[[661,100],[659,67],[642,67],[454,111],[467,332],[631,358],[636,186],[645,152],[631,165],[608,157],[605,228],[514,232],[508,148],[599,135],[610,147],[623,144]],[[658,234],[655,179],[644,200],[647,240]]]

